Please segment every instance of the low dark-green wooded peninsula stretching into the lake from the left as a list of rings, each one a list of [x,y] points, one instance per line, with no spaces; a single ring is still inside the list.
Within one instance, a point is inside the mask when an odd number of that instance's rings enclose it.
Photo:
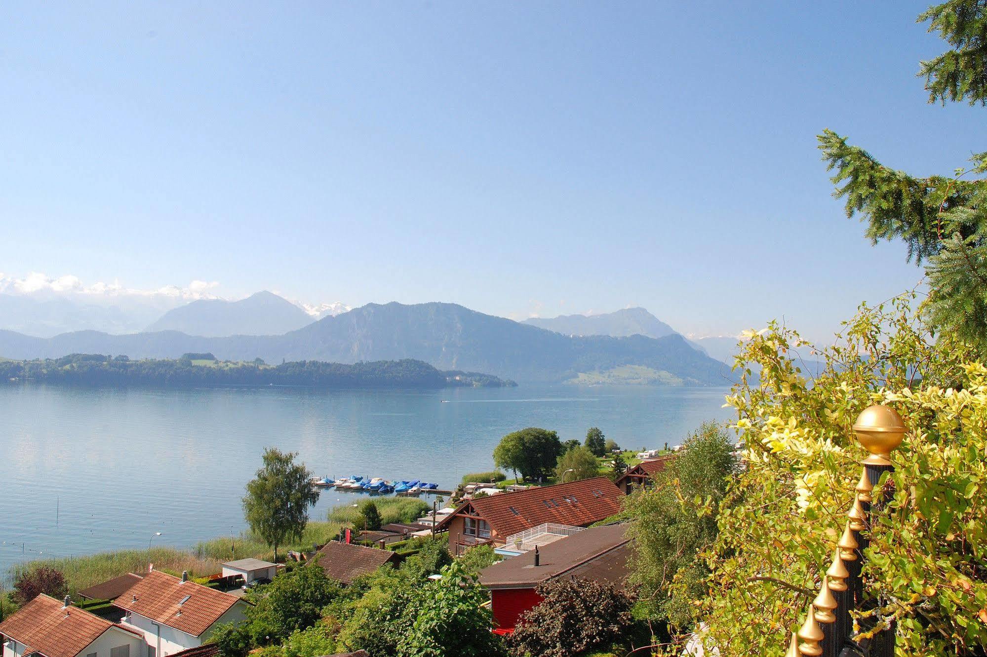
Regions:
[[[0,360],[0,382],[32,381],[78,386],[157,388],[297,386],[306,388],[499,388],[513,381],[478,372],[443,372],[420,360],[353,364],[302,360],[267,365],[220,361],[211,353],[178,359],[130,360],[126,356],[70,354],[62,358]]]

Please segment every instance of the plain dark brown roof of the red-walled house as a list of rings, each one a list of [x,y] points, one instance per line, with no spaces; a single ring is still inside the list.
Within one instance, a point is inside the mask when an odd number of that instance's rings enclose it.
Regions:
[[[563,575],[622,584],[628,575],[630,539],[624,525],[591,527],[539,549],[511,556],[484,568],[480,583],[491,589],[530,588]]]

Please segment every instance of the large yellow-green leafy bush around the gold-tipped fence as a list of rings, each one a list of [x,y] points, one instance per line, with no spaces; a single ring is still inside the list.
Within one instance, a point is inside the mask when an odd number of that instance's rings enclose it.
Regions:
[[[746,469],[708,550],[710,595],[694,608],[707,654],[782,654],[811,600],[792,588],[818,589],[855,498],[867,452],[852,426],[878,402],[908,431],[872,493],[889,495],[863,561],[873,616],[897,625],[899,655],[984,654],[987,367],[953,334],[934,337],[913,303],[863,306],[833,346],[815,348],[824,365],[811,379],[798,369],[809,345],[790,328],[772,323],[745,342],[727,401]]]

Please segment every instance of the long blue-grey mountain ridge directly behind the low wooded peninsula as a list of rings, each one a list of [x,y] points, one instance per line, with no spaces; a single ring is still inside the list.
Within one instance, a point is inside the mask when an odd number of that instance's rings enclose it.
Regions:
[[[0,355],[59,357],[70,353],[174,358],[209,351],[228,360],[268,363],[315,359],[415,358],[443,370],[472,370],[521,381],[565,381],[579,373],[641,365],[669,380],[725,385],[722,363],[692,348],[679,334],[569,336],[484,315],[455,304],[369,304],[283,335],[192,336],[178,331],[107,335],[82,331],[49,339],[0,331]]]

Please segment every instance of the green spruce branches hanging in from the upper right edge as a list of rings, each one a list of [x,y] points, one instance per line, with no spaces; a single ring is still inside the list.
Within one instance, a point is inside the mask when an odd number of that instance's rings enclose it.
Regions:
[[[922,62],[930,102],[987,105],[987,1],[951,0],[919,17],[952,49]],[[873,243],[901,240],[909,261],[925,263],[933,328],[987,354],[987,153],[953,176],[916,178],[882,165],[832,130],[818,136],[847,217],[862,215]]]

